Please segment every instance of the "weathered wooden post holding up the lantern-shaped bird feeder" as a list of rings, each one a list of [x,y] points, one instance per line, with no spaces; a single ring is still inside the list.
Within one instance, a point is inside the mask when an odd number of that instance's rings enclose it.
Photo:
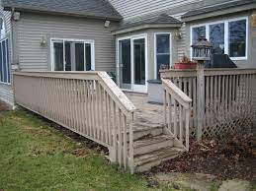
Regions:
[[[204,61],[199,61],[197,64],[197,78],[198,78],[197,139],[198,141],[202,140],[202,129],[203,129],[203,123],[204,123],[204,114],[205,114],[205,72],[204,70],[205,70]]]

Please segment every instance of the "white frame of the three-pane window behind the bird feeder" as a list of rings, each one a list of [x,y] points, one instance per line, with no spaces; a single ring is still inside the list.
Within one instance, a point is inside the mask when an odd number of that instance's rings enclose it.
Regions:
[[[245,56],[242,57],[230,57],[231,60],[247,60],[248,59],[248,34],[249,34],[249,23],[248,23],[248,17],[239,17],[239,18],[233,18],[233,19],[227,19],[227,20],[219,20],[215,22],[209,22],[199,25],[193,25],[190,27],[190,44],[193,43],[193,29],[199,28],[199,27],[206,27],[206,37],[207,39],[210,39],[210,26],[216,25],[216,24],[224,24],[224,53],[229,56],[229,28],[228,23],[229,22],[236,22],[236,21],[242,21],[245,20],[246,22],[246,46],[245,46]],[[192,48],[190,48],[190,57],[192,58]]]

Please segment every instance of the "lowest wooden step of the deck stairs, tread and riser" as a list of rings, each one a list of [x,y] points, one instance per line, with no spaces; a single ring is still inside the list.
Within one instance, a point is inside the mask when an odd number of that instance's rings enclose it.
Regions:
[[[136,172],[149,170],[151,167],[159,165],[162,161],[177,158],[184,152],[183,149],[175,147],[163,148],[151,153],[134,157]]]

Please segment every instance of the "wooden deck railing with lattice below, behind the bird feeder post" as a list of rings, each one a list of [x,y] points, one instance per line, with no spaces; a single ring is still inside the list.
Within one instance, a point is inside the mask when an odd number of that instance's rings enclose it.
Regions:
[[[169,79],[192,98],[190,131],[196,137],[197,71],[166,70],[161,72],[161,78]],[[236,123],[240,123],[236,119],[241,117],[255,117],[255,85],[256,69],[205,69],[203,136],[215,136],[234,129],[239,125]]]

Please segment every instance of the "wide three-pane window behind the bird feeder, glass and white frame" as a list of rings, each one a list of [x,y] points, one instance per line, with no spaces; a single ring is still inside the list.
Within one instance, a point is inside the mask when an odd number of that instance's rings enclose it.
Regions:
[[[191,28],[191,43],[200,36],[213,44],[213,53],[228,54],[233,60],[247,58],[248,19],[240,18]]]

